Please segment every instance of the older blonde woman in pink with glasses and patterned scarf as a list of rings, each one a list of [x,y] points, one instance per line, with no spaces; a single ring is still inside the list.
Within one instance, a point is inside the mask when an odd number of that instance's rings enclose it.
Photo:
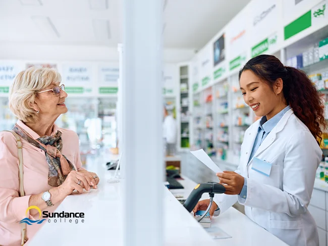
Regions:
[[[23,146],[25,196],[19,195],[16,139],[1,132],[0,245],[21,245],[19,222],[26,217],[39,219],[39,212],[26,211],[28,207],[53,212],[74,190],[81,194],[83,189],[97,189],[98,176],[82,168],[78,135],[54,124],[68,110],[60,81],[56,70],[32,67],[19,73],[11,86],[9,107],[19,118],[13,131]],[[26,238],[31,239],[40,226],[27,226]]]

